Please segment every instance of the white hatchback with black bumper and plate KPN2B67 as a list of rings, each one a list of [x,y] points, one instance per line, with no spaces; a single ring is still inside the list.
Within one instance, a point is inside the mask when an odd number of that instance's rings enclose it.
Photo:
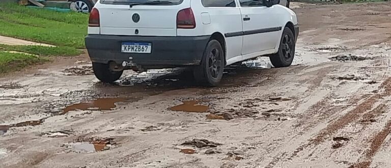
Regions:
[[[90,13],[86,47],[95,76],[114,82],[123,70],[191,67],[218,85],[224,67],[259,56],[290,66],[296,14],[279,0],[100,0]]]

